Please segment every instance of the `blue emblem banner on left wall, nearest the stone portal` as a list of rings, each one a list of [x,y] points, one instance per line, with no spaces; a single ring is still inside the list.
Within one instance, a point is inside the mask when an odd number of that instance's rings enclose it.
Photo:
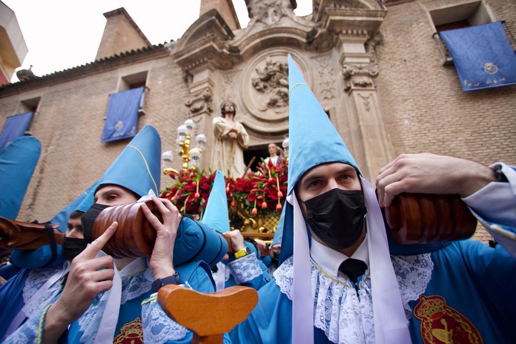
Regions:
[[[101,142],[115,141],[136,135],[138,109],[143,87],[109,95],[106,124]]]

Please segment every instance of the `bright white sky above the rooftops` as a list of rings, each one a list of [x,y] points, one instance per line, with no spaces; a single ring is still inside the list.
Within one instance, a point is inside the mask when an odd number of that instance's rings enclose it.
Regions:
[[[106,18],[102,13],[124,7],[152,44],[177,40],[199,18],[200,0],[2,0],[18,19],[32,64],[41,76],[95,59]],[[241,27],[249,22],[245,0],[233,0]],[[297,0],[295,13],[312,12],[312,0]],[[16,74],[11,82],[18,81]]]

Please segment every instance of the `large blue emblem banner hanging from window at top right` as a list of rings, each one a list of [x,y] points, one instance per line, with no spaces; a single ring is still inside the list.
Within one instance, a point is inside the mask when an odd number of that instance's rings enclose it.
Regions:
[[[441,31],[463,91],[516,84],[516,55],[502,22]]]

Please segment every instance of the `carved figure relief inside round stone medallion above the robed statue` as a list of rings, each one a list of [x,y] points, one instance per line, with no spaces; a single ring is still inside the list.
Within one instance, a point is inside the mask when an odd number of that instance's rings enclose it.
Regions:
[[[265,67],[256,68],[251,80],[254,89],[265,94],[261,111],[268,108],[283,112],[288,106],[288,64],[271,58],[265,59]]]

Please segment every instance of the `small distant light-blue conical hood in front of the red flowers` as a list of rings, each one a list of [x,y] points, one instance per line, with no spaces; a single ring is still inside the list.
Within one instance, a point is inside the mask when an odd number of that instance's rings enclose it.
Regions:
[[[229,232],[228,198],[225,192],[224,174],[217,171],[213,181],[212,191],[209,193],[202,223],[217,231]]]

